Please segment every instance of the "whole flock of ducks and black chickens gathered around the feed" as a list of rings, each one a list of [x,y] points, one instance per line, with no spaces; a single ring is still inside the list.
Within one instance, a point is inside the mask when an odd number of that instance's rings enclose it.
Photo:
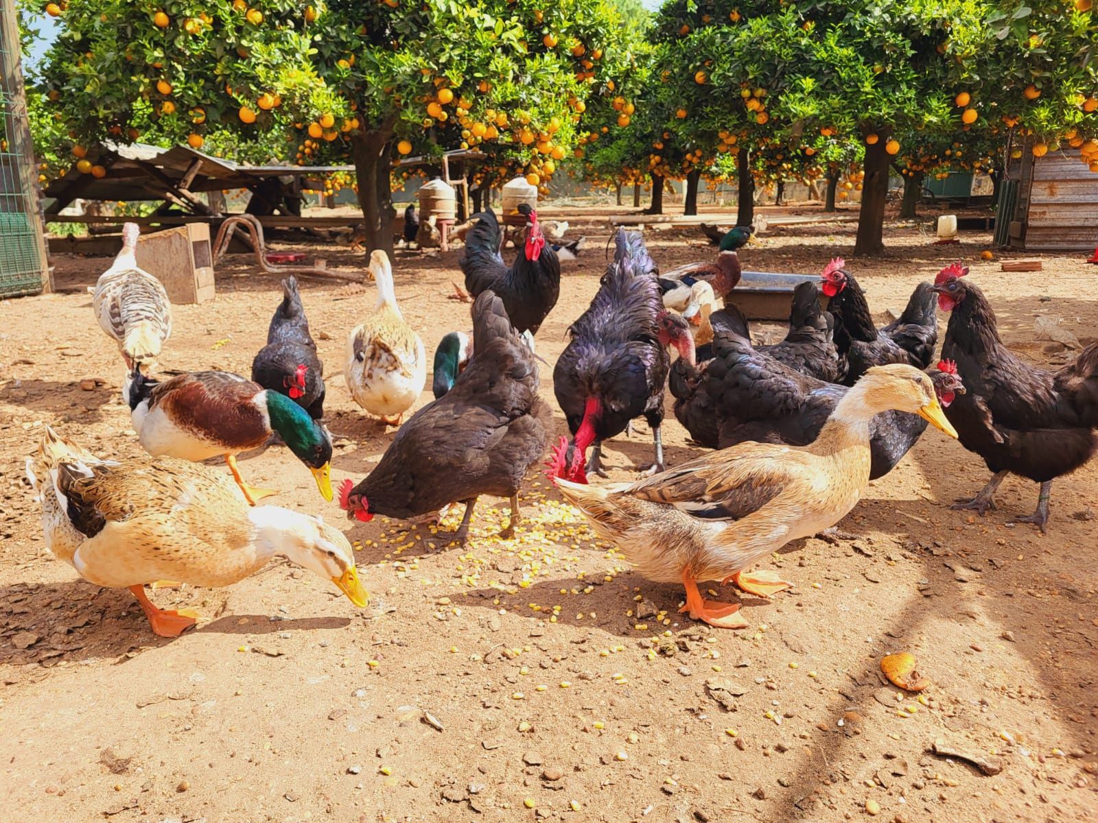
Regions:
[[[715,260],[664,272],[639,234],[616,233],[598,290],[552,369],[569,430],[553,443],[535,336],[560,295],[560,258],[533,207],[511,216],[525,223],[525,238],[509,266],[495,214],[471,218],[459,261],[464,289],[451,295],[471,303],[471,329],[442,337],[434,399],[407,419],[427,356],[397,305],[389,258],[371,255],[377,304],[348,335],[344,373],[355,402],[396,432],[365,478],[337,491],[324,367],[295,280],[282,283],[250,380],[223,371],[156,377],[171,307],[156,277],[137,266],[138,230],[127,224],[122,251],[90,291],[125,363],[124,398],[150,458],[103,460],[47,427],[26,470],[51,551],[92,583],[130,588],[165,636],[197,616],[157,608],[145,585],[225,586],[276,555],[361,607],[368,595],[344,533],[320,516],[262,504],[277,492],[248,484],[236,455],[281,441],[352,521],[437,521],[463,504],[458,544],[481,495],[509,499],[502,537],[514,537],[518,491],[544,462],[561,496],[642,575],[683,585],[680,611],[736,629],[747,625],[740,605],[706,599],[698,583],[731,583],[762,598],[787,588],[752,567],[792,540],[833,529],[928,425],[994,473],[954,508],[983,515],[999,483],[1017,474],[1040,484],[1035,512],[1019,521],[1042,531],[1052,482],[1098,447],[1098,345],[1057,372],[1023,363],[1002,345],[987,298],[960,263],[920,283],[903,314],[878,328],[854,274],[834,259],[796,286],[786,337],[755,346],[735,291],[751,227],[707,230],[719,247]],[[938,309],[950,319],[935,363]],[[671,469],[661,440],[669,390],[699,450]],[[589,483],[606,476],[603,443],[637,418],[652,432],[651,463],[632,483]],[[229,475],[200,462],[216,456]]]

